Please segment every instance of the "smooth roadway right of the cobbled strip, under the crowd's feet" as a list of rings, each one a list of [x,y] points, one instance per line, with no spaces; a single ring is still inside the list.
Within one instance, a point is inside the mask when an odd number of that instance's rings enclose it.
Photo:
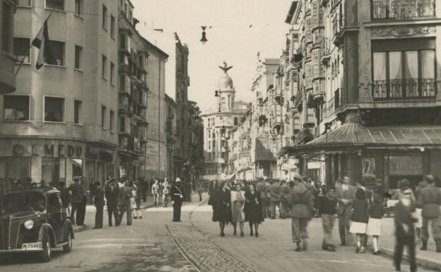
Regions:
[[[338,247],[336,252],[322,250],[322,227],[319,219],[310,224],[310,249],[295,252],[290,237],[290,219],[266,220],[259,229],[259,237],[233,236],[233,227],[227,227],[227,237],[219,237],[218,225],[211,222],[211,208],[201,206],[192,214],[192,223],[213,243],[235,256],[245,266],[257,271],[327,271],[327,272],[387,272],[394,271],[392,260],[370,253],[355,254],[355,247]],[[334,238],[338,239],[335,230]],[[409,271],[407,264],[402,271]],[[418,269],[418,271],[425,271]]]

